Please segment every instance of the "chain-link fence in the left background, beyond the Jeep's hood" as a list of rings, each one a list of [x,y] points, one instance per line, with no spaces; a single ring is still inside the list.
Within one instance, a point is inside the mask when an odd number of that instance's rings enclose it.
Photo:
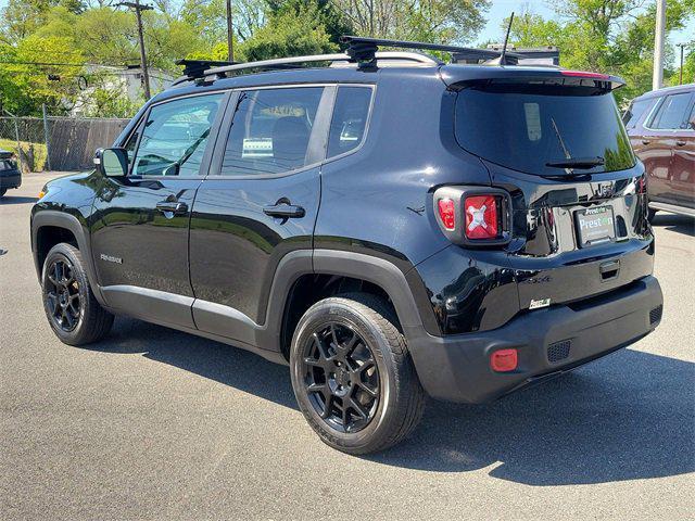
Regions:
[[[0,149],[17,156],[22,170],[90,168],[94,150],[111,147],[128,119],[15,117],[0,115]]]

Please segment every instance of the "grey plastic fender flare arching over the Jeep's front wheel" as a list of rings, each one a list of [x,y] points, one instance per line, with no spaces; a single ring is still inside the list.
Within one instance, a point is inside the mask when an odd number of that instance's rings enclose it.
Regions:
[[[94,267],[94,259],[91,254],[91,243],[89,240],[89,233],[85,230],[85,227],[77,217],[64,212],[58,212],[54,209],[41,209],[36,212],[31,217],[31,253],[34,255],[34,265],[36,267],[36,274],[41,280],[42,266],[39,264],[38,252],[38,232],[46,226],[52,226],[55,228],[63,228],[68,230],[75,240],[77,241],[77,247],[83,254],[83,260],[85,262],[85,269],[87,271],[87,278],[89,284],[92,288],[94,296],[101,305],[104,305],[103,296],[99,288],[97,280],[97,270]]]

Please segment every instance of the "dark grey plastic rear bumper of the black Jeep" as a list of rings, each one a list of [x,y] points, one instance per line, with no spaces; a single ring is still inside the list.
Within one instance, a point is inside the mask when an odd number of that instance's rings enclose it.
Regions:
[[[432,336],[408,328],[408,347],[427,393],[433,398],[485,403],[561,374],[636,342],[661,319],[659,282],[645,277],[577,305],[527,313],[481,333]],[[511,372],[490,368],[497,350],[518,350]]]

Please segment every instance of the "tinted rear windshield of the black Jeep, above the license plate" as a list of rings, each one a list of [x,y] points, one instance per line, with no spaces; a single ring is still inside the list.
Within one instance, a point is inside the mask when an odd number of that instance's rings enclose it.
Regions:
[[[612,94],[587,87],[469,86],[458,93],[455,131],[467,151],[529,174],[561,176],[557,165],[586,158],[596,165],[574,171],[622,170],[635,162]]]

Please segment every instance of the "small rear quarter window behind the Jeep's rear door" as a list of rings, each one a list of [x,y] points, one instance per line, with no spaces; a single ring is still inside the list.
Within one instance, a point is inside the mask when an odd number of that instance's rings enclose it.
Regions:
[[[328,157],[359,147],[365,135],[372,89],[339,87],[328,136]]]

